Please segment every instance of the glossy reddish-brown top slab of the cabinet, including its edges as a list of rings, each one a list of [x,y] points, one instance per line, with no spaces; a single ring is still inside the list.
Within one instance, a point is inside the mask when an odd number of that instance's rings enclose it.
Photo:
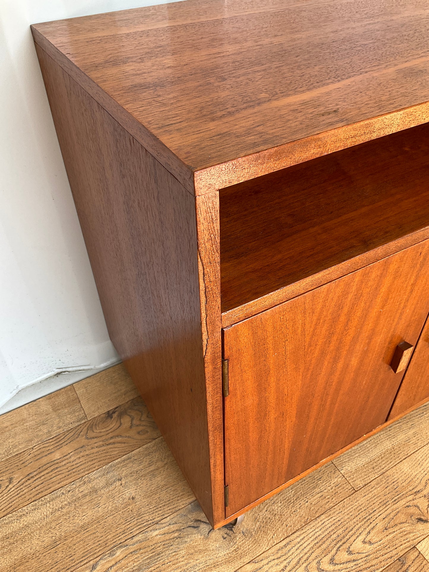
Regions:
[[[33,35],[195,194],[429,120],[426,0],[187,0]]]

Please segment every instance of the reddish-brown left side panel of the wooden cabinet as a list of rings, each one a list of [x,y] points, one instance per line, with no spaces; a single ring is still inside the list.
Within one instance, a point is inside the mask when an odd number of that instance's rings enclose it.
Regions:
[[[36,47],[110,337],[213,523],[195,199]]]

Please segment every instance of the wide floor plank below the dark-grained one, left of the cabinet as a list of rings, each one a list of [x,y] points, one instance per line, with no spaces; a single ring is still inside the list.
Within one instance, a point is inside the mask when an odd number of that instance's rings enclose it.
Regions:
[[[72,572],[192,501],[160,437],[0,519],[0,570]]]

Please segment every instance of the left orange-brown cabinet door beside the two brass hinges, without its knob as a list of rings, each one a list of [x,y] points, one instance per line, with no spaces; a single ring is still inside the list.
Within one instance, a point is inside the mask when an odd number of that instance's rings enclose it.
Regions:
[[[429,311],[424,241],[224,330],[226,514],[382,424]]]

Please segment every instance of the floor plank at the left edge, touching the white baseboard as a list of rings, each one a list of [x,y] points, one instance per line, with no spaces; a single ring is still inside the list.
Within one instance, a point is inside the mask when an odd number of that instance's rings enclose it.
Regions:
[[[0,415],[0,460],[86,421],[73,386]]]

